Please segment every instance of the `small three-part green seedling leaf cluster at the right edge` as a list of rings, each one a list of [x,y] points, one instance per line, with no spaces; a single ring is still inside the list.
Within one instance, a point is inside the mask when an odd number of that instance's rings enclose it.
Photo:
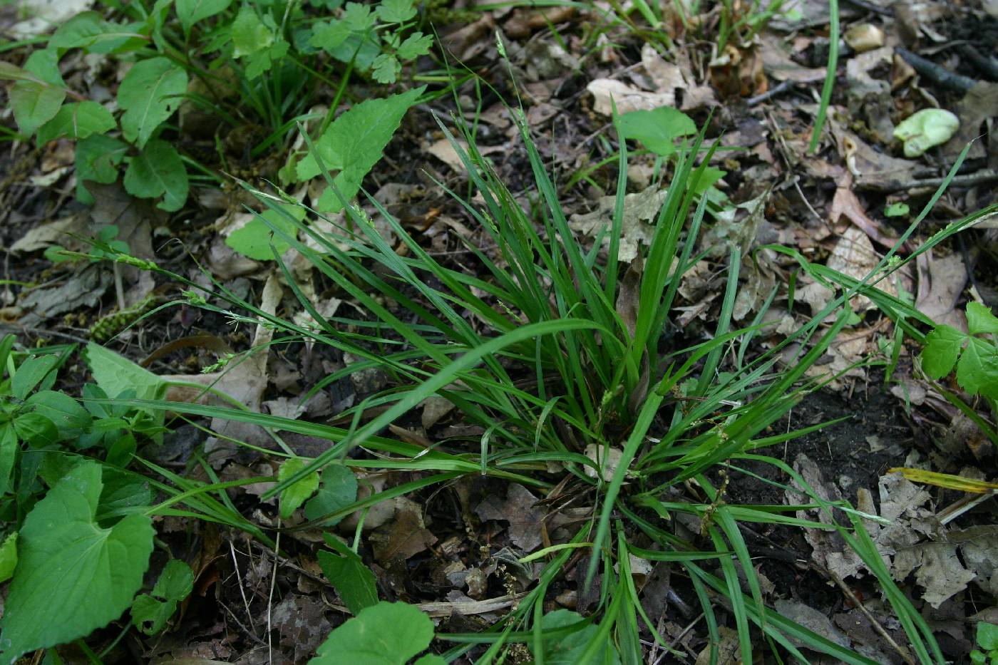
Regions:
[[[967,331],[937,326],[925,335],[922,369],[932,378],[949,374],[956,366],[956,381],[970,394],[998,399],[998,318],[979,303],[967,305]],[[959,359],[959,361],[957,361]]]

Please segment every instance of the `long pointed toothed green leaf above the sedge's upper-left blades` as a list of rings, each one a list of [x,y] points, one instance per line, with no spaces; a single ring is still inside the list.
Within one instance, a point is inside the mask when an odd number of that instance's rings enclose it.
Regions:
[[[339,171],[334,182],[347,200],[360,189],[360,183],[381,159],[381,152],[391,140],[402,117],[425,86],[414,88],[385,99],[370,99],[355,105],[326,129],[315,143],[315,151],[330,172]],[[314,155],[305,155],[296,167],[298,180],[306,181],[321,171]],[[323,194],[320,206],[324,211],[342,209],[331,191]]]

